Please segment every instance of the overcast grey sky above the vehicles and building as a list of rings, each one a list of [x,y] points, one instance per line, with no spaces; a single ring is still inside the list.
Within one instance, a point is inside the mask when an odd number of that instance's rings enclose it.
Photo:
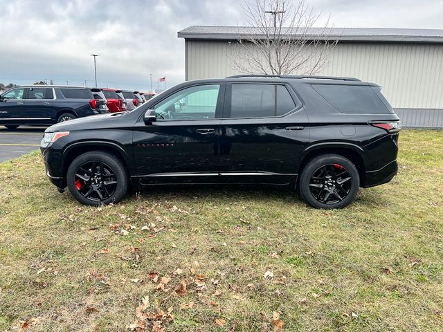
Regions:
[[[311,0],[336,27],[443,28],[443,0]],[[191,25],[242,25],[242,0],[0,0],[0,82],[150,89],[182,82]],[[163,83],[161,83],[161,88]]]

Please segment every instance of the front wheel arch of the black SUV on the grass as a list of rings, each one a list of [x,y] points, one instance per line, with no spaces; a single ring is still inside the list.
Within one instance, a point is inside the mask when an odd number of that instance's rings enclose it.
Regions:
[[[79,142],[70,145],[63,151],[63,177],[66,178],[66,173],[68,172],[69,165],[73,162],[75,158],[90,151],[103,151],[109,154],[114,154],[120,160],[123,161],[123,165],[127,170],[128,176],[132,174],[131,163],[129,163],[129,156],[127,155],[125,149],[120,147],[120,145],[113,142]]]

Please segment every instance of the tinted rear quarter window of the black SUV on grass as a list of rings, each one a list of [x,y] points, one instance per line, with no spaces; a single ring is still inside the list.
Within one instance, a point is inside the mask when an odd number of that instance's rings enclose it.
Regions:
[[[361,85],[312,84],[329,104],[341,113],[389,114],[392,108],[381,95],[380,88]]]

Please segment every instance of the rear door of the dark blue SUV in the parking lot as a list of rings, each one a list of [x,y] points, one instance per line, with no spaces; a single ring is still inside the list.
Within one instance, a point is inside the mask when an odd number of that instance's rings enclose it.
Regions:
[[[24,116],[28,124],[55,123],[54,92],[52,88],[31,86],[26,88]]]

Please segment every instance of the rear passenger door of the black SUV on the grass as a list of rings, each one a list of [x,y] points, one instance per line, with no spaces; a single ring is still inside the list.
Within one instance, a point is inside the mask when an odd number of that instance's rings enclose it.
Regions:
[[[217,153],[223,183],[287,184],[309,142],[307,113],[291,86],[232,83],[226,86]]]

